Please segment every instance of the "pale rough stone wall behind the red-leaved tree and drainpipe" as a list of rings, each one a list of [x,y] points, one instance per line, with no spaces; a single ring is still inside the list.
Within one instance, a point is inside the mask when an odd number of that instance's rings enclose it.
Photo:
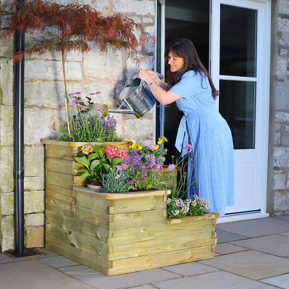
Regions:
[[[67,0],[59,0],[66,4]],[[71,1],[73,2],[73,1]],[[3,3],[3,2],[2,2]],[[104,16],[115,12],[124,13],[145,29],[155,34],[154,0],[100,0],[79,1],[90,4],[103,12]],[[131,11],[135,9],[135,11]],[[9,19],[2,17],[1,28],[7,27]],[[45,34],[26,34],[28,48]],[[13,183],[13,87],[14,53],[13,38],[0,43],[0,252],[14,247],[14,183]],[[144,68],[152,68],[154,63],[154,43],[140,48],[140,54],[147,56]],[[58,129],[66,119],[61,77],[60,55],[58,53],[25,59],[25,245],[44,246],[44,207],[45,207],[45,157],[42,139],[58,136]],[[86,55],[70,53],[66,58],[68,92],[81,91],[82,96],[89,92],[101,91],[95,95],[95,102],[106,103],[109,108],[118,107],[117,97],[127,77],[136,66],[126,61],[124,53],[100,55],[97,48]],[[101,97],[101,99],[99,98]],[[114,114],[117,120],[117,133],[124,140],[131,138],[149,144],[153,139],[153,111],[141,119],[130,114]]]

